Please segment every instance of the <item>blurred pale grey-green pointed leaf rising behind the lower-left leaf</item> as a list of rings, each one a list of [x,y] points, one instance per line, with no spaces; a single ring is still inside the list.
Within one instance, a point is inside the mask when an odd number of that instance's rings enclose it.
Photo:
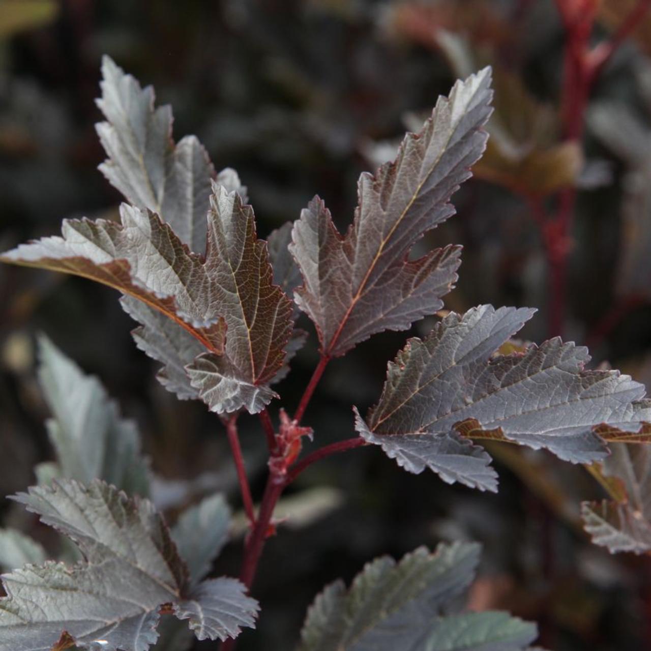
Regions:
[[[38,352],[59,474],[83,483],[100,478],[129,494],[147,495],[149,471],[135,422],[120,419],[100,381],[85,375],[47,337],[39,338]]]

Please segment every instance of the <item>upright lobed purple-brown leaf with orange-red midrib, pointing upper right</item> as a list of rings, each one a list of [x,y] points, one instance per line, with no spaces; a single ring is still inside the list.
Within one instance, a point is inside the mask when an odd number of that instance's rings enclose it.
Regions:
[[[410,260],[414,243],[454,214],[449,199],[486,146],[490,68],[439,98],[393,163],[359,178],[352,227],[341,236],[315,197],[294,223],[290,247],[303,275],[295,292],[316,325],[324,355],[343,355],[386,329],[404,330],[443,305],[456,281],[460,247]]]

